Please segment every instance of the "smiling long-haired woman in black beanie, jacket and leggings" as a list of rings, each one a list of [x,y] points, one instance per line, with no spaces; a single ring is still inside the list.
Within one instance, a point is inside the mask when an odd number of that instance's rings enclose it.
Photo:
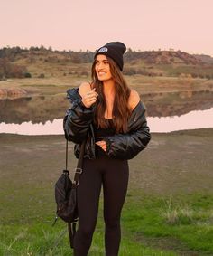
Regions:
[[[64,119],[66,137],[75,142],[75,155],[86,140],[83,173],[78,186],[79,230],[74,255],[86,256],[97,223],[101,185],[104,192],[106,256],[118,255],[120,215],[128,184],[128,159],[150,141],[144,104],[124,80],[124,43],[106,43],[97,50],[92,82],[68,90],[72,107]]]

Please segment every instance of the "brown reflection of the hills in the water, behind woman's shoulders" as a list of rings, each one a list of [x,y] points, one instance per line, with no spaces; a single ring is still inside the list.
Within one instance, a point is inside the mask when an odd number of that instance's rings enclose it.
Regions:
[[[213,107],[212,91],[160,92],[143,95],[147,115],[151,117],[181,116],[192,110]],[[0,122],[32,123],[63,118],[69,101],[65,96],[36,96],[0,100]]]

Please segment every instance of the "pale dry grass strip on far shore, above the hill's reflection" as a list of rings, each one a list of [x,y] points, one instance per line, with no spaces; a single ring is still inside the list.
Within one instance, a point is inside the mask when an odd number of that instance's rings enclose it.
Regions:
[[[150,92],[176,92],[176,91],[199,91],[213,90],[213,81],[205,79],[187,79],[172,77],[146,77],[142,75],[125,76],[125,80],[130,87],[140,94]],[[44,79],[8,79],[0,82],[1,88],[20,87],[29,92],[42,94],[55,94],[63,92],[70,87],[77,87],[83,81],[90,81],[89,77],[79,77],[77,75],[47,77]]]

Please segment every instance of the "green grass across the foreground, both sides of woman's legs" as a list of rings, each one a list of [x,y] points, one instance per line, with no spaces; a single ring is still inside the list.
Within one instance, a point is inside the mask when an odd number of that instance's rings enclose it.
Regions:
[[[51,188],[45,185],[45,190],[46,195],[42,189],[26,186],[16,192],[15,204],[3,202],[9,214],[0,226],[0,255],[70,255],[66,223],[59,220],[51,226],[55,204]],[[212,200],[212,194],[172,197],[129,190],[122,214],[119,255],[190,255],[191,251],[212,255]],[[90,256],[104,254],[102,212],[100,204]]]

